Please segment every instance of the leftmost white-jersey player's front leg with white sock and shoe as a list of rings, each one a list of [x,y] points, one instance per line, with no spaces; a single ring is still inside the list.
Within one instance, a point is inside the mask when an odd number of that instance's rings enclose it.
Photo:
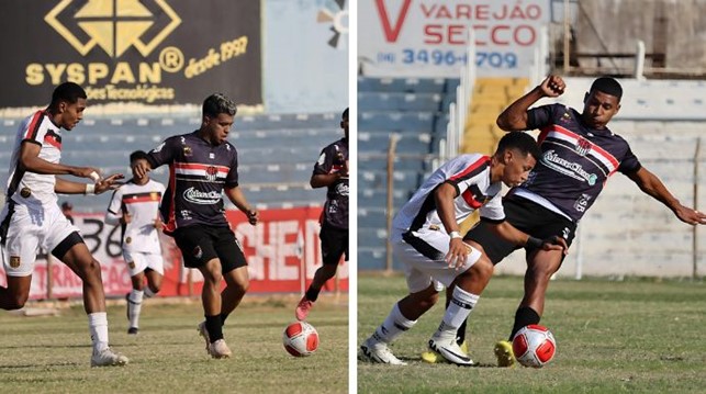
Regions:
[[[93,341],[91,367],[126,364],[127,358],[113,352],[108,345],[108,314],[100,262],[91,256],[83,243],[74,245],[60,260],[81,279],[83,284],[83,309],[88,314],[88,325]]]

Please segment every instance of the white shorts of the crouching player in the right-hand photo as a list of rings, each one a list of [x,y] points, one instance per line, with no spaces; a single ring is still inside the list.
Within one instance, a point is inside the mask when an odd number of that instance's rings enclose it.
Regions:
[[[407,238],[411,244],[401,236],[393,237],[392,241],[394,256],[404,263],[410,293],[421,292],[433,283],[437,291],[441,291],[439,283],[450,286],[456,277],[466,272],[481,258],[481,252],[471,248],[462,267],[449,268],[445,257],[449,252],[451,238],[447,234],[423,228],[412,232],[411,236]]]

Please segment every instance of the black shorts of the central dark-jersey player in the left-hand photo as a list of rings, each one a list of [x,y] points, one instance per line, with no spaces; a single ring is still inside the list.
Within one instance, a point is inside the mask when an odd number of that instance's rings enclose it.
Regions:
[[[184,267],[199,268],[215,258],[221,260],[223,273],[247,266],[240,243],[228,227],[197,224],[177,228],[173,237]]]

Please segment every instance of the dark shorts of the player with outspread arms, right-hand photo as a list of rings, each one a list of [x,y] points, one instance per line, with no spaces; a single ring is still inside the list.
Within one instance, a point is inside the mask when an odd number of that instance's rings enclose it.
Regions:
[[[527,199],[514,195],[503,199],[503,207],[505,210],[505,221],[517,227],[517,229],[539,239],[558,235],[567,240],[567,245],[571,246],[576,233],[576,224],[567,217]],[[520,248],[520,246],[500,238],[483,221],[471,228],[463,239],[480,244],[488,257],[493,261],[493,264],[497,264],[509,254]],[[527,252],[534,250],[530,248],[525,249],[527,249]]]

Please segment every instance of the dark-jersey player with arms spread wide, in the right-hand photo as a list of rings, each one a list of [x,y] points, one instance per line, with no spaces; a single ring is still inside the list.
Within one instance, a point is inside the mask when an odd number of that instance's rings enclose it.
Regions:
[[[503,200],[507,222],[534,237],[563,234],[571,245],[579,221],[596,201],[608,177],[619,171],[642,192],[666,205],[680,221],[706,224],[706,215],[682,205],[657,176],[640,165],[628,143],[607,127],[620,109],[623,97],[623,88],[615,79],[596,79],[584,97],[581,113],[562,104],[529,109],[541,98],[561,95],[564,88],[561,77],[549,76],[497,117],[497,125],[506,132],[538,128],[542,150],[527,182],[513,188]],[[482,248],[494,264],[518,249],[493,236],[483,221],[464,240]],[[511,340],[522,327],[539,323],[549,279],[559,270],[564,256],[557,250],[525,249],[525,296],[515,314]],[[463,340],[464,331],[462,325],[458,340]],[[515,362],[509,341],[497,342],[495,354],[500,367]]]

